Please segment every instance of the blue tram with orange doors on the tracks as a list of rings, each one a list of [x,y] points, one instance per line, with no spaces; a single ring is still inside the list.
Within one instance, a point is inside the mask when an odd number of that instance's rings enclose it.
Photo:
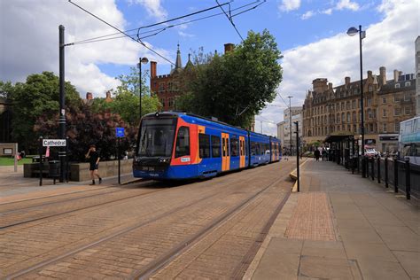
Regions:
[[[280,141],[191,113],[149,113],[137,136],[135,177],[212,177],[281,159]]]

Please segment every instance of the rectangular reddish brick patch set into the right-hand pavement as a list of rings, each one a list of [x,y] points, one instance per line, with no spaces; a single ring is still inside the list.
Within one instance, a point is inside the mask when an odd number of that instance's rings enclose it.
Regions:
[[[298,194],[298,205],[292,214],[284,237],[335,241],[336,232],[328,196],[323,192]]]

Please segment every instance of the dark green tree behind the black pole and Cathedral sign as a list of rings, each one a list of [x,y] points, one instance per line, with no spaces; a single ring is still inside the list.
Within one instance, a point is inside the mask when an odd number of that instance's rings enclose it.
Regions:
[[[35,148],[39,134],[35,133],[35,121],[45,116],[49,120],[58,115],[59,81],[52,72],[31,74],[27,82],[12,86],[9,98],[12,101],[12,137],[22,148]],[[81,98],[70,82],[65,83],[66,109],[78,107]],[[57,131],[58,133],[58,131]],[[56,134],[57,136],[57,134]]]

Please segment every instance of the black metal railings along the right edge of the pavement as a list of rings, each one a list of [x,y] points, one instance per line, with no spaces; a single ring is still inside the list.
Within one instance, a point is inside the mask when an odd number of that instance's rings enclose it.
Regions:
[[[348,168],[369,180],[384,183],[385,188],[402,191],[407,199],[420,198],[420,166],[393,158],[355,157],[346,159]]]

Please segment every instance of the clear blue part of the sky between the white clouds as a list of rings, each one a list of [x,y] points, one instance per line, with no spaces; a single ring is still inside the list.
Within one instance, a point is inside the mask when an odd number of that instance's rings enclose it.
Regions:
[[[77,3],[77,1],[74,2]],[[374,9],[380,1],[349,2],[350,4],[358,4],[359,8],[357,11],[346,7],[341,8],[341,10],[334,10],[339,1],[303,0],[300,2],[299,8],[289,11],[287,9],[282,10],[282,1],[268,0],[265,3],[261,1],[255,4],[253,2],[253,0],[236,0],[230,3],[230,9],[232,10],[245,4],[251,4],[249,7],[261,4],[256,9],[234,18],[234,23],[239,33],[245,38],[248,30],[261,32],[267,28],[276,37],[278,48],[281,51],[343,33],[350,26],[358,24],[367,26],[377,22],[382,17],[382,14]],[[219,3],[227,2],[219,1]],[[165,12],[166,17],[159,17],[157,12],[148,12],[143,5],[136,4],[136,1],[119,0],[116,4],[127,20],[126,29],[130,29],[150,25],[159,22],[161,19],[173,19],[184,14],[203,10],[214,6],[216,3],[209,0],[161,1],[160,10]],[[224,7],[226,11],[229,10],[228,6]],[[329,9],[332,10],[331,14],[323,13]],[[220,9],[214,9],[182,20],[198,19],[221,12]],[[305,13],[312,16],[303,19],[302,17],[304,17]],[[175,22],[181,23],[183,22],[182,20]],[[217,50],[222,52],[224,43],[241,42],[239,35],[237,35],[237,32],[224,15],[203,19],[188,24],[184,28],[173,27],[167,29],[167,31],[159,35],[147,38],[146,41],[169,51],[168,58],[172,61],[175,61],[176,44],[180,43],[183,64],[186,63],[188,52],[191,50],[197,51],[199,47],[203,47],[205,51]],[[118,40],[114,42],[118,43]],[[100,65],[100,68],[110,75],[116,75],[124,71],[123,67],[109,64]],[[159,64],[159,74],[167,74],[169,71],[170,66],[168,64]]]

